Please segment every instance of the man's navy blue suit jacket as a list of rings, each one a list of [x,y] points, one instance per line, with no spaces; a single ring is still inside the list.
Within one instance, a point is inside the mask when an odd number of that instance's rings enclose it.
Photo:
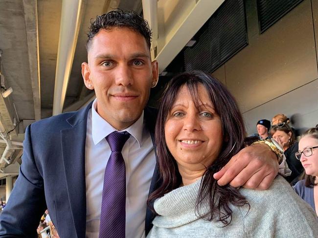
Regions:
[[[85,141],[91,104],[27,127],[20,173],[0,215],[0,237],[37,237],[47,207],[61,238],[85,238]],[[156,116],[156,109],[145,108],[144,123],[153,143]],[[149,193],[158,187],[158,177],[156,165]],[[147,208],[146,234],[153,218]]]

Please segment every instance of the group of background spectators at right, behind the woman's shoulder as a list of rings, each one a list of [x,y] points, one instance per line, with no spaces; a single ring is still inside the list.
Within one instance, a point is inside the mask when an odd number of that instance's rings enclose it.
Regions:
[[[318,214],[315,206],[315,201],[318,201],[318,124],[299,135],[291,127],[286,115],[277,114],[272,122],[267,119],[259,120],[256,128],[258,139],[274,140],[277,147],[284,151],[291,171],[285,179]]]

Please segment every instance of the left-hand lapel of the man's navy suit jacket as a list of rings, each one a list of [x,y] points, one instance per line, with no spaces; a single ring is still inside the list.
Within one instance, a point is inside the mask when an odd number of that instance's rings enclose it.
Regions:
[[[61,130],[61,144],[64,171],[72,222],[77,238],[85,238],[86,232],[86,180],[85,180],[85,143],[87,115],[91,108],[77,111],[68,118],[70,128]]]

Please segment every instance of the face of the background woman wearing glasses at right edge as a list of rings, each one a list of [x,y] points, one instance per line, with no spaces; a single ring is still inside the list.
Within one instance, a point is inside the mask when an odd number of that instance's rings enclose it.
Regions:
[[[318,140],[309,135],[301,138],[298,144],[299,151],[314,146],[318,146]],[[318,176],[318,148],[312,149],[312,152],[313,154],[308,157],[302,153],[300,162],[304,167],[306,174]]]

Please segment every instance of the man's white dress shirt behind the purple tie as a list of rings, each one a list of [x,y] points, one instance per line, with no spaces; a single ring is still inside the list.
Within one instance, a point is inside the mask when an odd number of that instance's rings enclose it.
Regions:
[[[97,99],[88,113],[86,175],[86,238],[98,238],[105,168],[111,149],[105,137],[115,131],[96,111]],[[145,237],[145,217],[151,179],[156,166],[151,136],[140,118],[125,129],[131,136],[122,149],[126,165],[126,238]]]

